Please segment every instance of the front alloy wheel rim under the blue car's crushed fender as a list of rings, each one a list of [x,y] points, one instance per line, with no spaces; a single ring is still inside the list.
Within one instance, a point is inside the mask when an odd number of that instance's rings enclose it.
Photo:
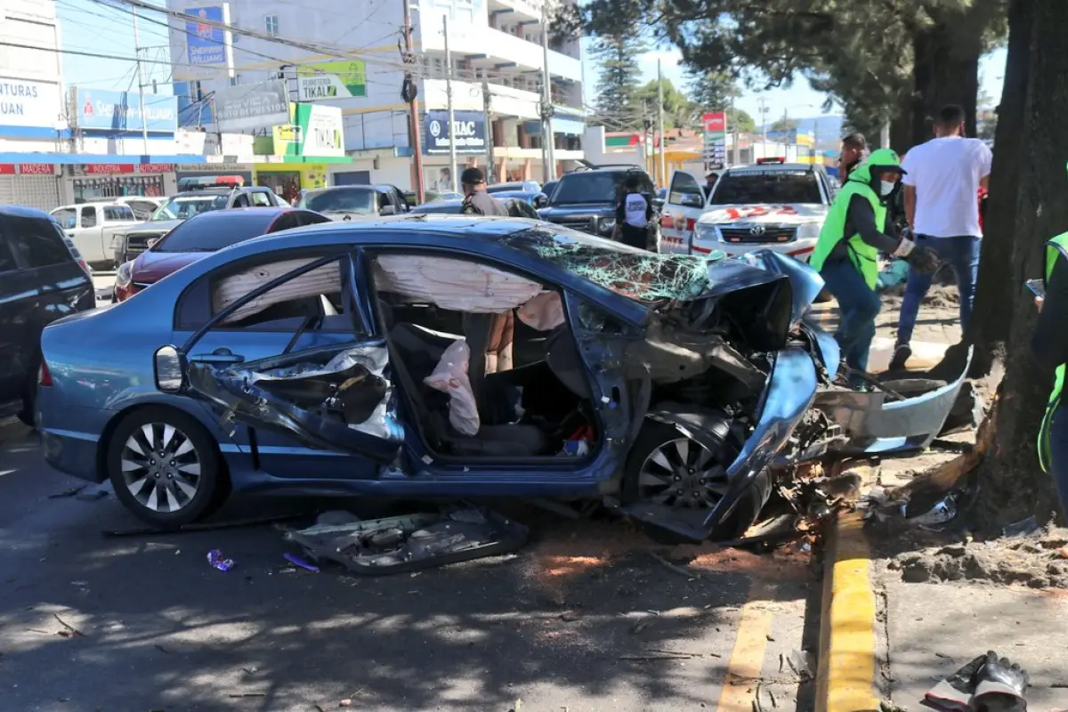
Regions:
[[[707,447],[689,438],[670,440],[642,463],[639,497],[682,509],[711,509],[726,495],[727,473]]]

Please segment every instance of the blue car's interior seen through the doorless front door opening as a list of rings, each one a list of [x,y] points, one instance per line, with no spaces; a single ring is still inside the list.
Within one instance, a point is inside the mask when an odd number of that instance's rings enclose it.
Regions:
[[[393,367],[437,456],[577,455],[596,442],[592,393],[561,295],[487,265],[437,256],[379,255],[372,269]],[[456,342],[476,424],[450,417],[452,396],[427,384]]]

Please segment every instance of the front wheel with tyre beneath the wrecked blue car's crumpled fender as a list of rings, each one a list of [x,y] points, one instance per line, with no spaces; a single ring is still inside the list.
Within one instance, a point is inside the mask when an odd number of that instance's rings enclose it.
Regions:
[[[642,428],[627,458],[623,496],[628,504],[651,502],[673,509],[711,511],[726,495],[729,481],[726,469],[737,455],[729,421],[724,416],[711,424],[718,433],[716,447],[692,440],[674,426],[649,421]],[[712,443],[710,443],[712,444]],[[763,502],[756,488],[742,495],[734,511],[709,536],[733,539],[740,536],[759,515]],[[659,541],[684,541],[668,529],[649,529]]]

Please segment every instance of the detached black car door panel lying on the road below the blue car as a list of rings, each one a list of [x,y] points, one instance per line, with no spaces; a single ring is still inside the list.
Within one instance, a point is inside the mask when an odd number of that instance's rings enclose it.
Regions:
[[[408,573],[512,553],[528,529],[487,509],[446,507],[438,513],[388,517],[287,532],[315,560],[332,560],[358,575]]]

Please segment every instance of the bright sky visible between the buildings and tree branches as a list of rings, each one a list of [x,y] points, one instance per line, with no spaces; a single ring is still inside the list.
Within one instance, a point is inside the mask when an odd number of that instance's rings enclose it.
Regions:
[[[155,0],[150,0],[155,1]],[[162,4],[162,3],[157,3]],[[128,11],[108,9],[90,0],[57,0],[57,10],[62,21],[63,48],[134,57],[134,30]],[[160,64],[143,64],[142,81],[150,84],[152,80],[159,82],[158,92],[169,93],[171,80],[168,65],[167,30],[152,20],[161,21],[162,15],[147,13],[140,22],[140,39],[142,58]],[[677,49],[663,49],[646,52],[639,60],[643,72],[643,82],[657,76],[657,60],[660,60],[663,75],[676,86],[685,86],[682,68],[679,64],[680,54]],[[1001,96],[1002,77],[1005,70],[1005,49],[998,49],[984,58],[979,64],[981,89],[996,105]],[[134,63],[130,61],[104,60],[74,54],[64,56],[64,81],[67,85],[95,86],[97,89],[135,90]],[[594,96],[597,68],[587,61],[585,67],[586,100]],[[737,107],[747,111],[759,123],[760,99],[768,108],[768,121],[772,122],[783,115],[783,112],[795,118],[812,118],[822,113],[822,104],[827,96],[815,92],[806,79],[798,79],[788,89],[774,89],[767,92],[747,92],[737,101]],[[831,113],[837,113],[832,110]]]

